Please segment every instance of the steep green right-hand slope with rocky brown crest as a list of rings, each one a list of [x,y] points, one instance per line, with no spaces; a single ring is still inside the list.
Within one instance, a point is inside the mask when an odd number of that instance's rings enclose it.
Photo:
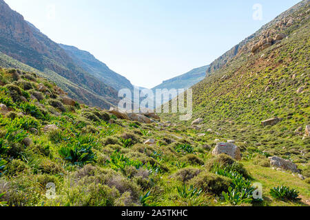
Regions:
[[[161,117],[187,126],[201,118],[195,133],[205,133],[203,140],[234,140],[244,155],[276,155],[301,170],[309,167],[310,142],[303,137],[310,124],[309,2],[280,14],[234,47],[241,48],[237,53],[230,50],[210,65],[212,74],[192,87],[191,121]]]

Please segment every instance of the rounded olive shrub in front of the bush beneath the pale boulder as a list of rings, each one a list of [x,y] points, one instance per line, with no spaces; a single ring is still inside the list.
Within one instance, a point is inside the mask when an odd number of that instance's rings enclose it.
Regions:
[[[206,192],[213,192],[216,195],[220,195],[223,191],[227,192],[231,182],[231,179],[227,177],[221,177],[220,175],[204,171],[191,179],[189,185],[202,188]]]

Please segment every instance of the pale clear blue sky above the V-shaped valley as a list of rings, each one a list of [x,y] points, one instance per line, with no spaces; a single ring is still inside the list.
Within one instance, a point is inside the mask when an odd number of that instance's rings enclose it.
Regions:
[[[57,43],[94,54],[134,85],[208,65],[299,0],[5,0]],[[253,5],[262,5],[262,20]]]

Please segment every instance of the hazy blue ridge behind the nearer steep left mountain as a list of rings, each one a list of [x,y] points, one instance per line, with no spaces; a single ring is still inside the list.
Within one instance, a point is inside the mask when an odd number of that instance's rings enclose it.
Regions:
[[[73,46],[63,44],[59,44],[59,46],[67,52],[76,65],[79,65],[81,68],[85,69],[87,73],[92,74],[92,76],[98,78],[106,85],[110,85],[110,87],[113,87],[116,90],[125,88],[130,90],[134,89],[130,80],[127,80],[124,76],[116,74],[116,72],[109,69],[105,63],[97,60],[89,52],[79,50]]]

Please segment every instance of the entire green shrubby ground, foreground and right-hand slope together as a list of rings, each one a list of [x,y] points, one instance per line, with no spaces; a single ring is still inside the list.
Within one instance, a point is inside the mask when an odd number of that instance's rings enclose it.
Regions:
[[[276,21],[192,87],[190,121],[89,107],[0,54],[0,206],[310,206],[309,1]]]

